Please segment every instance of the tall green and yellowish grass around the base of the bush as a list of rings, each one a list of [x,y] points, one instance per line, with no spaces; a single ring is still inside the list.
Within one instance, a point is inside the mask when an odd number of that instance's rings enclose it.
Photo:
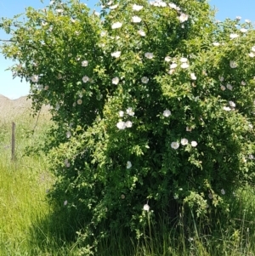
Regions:
[[[49,114],[31,117],[25,98],[0,97],[0,255],[88,255],[66,237],[71,227],[65,213],[56,214],[47,202],[54,183],[47,158],[26,156],[26,146],[39,145],[49,127]],[[16,123],[16,160],[11,161],[11,123]],[[36,127],[36,128],[35,128]],[[31,130],[35,128],[34,133]],[[131,241],[120,229],[99,244],[99,256],[252,256],[255,255],[255,196],[249,186],[237,191],[225,216],[213,213],[213,230],[205,232],[207,219],[178,220],[171,231],[164,219],[151,226],[150,236]],[[191,215],[192,216],[192,215]],[[189,233],[192,236],[185,236]]]

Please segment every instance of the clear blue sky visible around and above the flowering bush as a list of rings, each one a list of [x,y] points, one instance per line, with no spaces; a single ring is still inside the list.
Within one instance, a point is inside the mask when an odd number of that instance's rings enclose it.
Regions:
[[[91,9],[95,8],[97,0],[81,1],[87,3]],[[49,0],[41,3],[40,0],[0,0],[0,18],[12,18],[15,14],[23,13],[26,7],[42,9],[48,5]],[[243,20],[248,19],[255,21],[255,0],[210,0],[212,7],[218,9],[217,19],[224,20],[225,18],[235,19],[236,16],[241,16]],[[7,36],[0,30],[0,39],[7,39]],[[20,82],[20,78],[13,79],[11,71],[5,71],[8,66],[13,65],[10,60],[5,60],[0,54],[0,94],[7,96],[10,99],[17,99],[20,96],[29,93],[29,84]]]

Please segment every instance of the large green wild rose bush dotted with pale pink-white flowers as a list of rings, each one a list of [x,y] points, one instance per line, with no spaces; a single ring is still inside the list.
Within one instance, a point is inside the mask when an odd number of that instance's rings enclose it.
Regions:
[[[52,1],[1,23],[35,111],[52,106],[49,195],[88,229],[137,236],[173,202],[226,209],[254,179],[251,23],[217,22],[203,0],[101,4]]]

